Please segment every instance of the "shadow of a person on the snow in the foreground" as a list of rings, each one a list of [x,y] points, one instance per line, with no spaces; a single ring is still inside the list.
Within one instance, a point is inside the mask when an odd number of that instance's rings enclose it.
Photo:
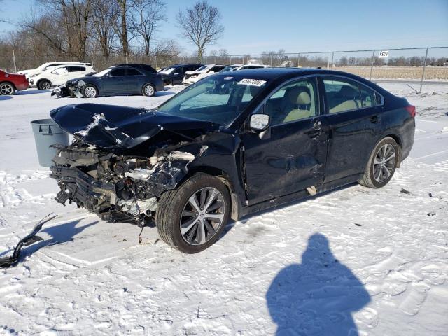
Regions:
[[[309,237],[302,263],[282,269],[266,294],[276,335],[358,335],[351,313],[370,302],[369,293],[330,251],[321,234]]]

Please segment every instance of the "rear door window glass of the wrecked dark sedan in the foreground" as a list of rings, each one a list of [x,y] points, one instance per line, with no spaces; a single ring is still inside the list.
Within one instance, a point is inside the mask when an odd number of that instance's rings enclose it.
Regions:
[[[363,107],[358,83],[353,80],[324,78],[323,85],[325,86],[325,95],[330,113],[356,110]]]

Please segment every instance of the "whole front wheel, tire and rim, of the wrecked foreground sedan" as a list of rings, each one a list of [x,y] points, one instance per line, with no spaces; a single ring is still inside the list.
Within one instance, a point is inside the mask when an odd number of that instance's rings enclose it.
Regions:
[[[183,253],[204,251],[230,216],[230,193],[221,180],[198,173],[160,197],[155,222],[160,237]]]

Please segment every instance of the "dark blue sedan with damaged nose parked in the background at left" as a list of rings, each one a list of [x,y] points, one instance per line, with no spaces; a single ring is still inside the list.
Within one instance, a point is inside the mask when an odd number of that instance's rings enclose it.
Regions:
[[[153,96],[163,90],[165,85],[158,73],[130,66],[111,66],[93,75],[69,80],[65,87],[57,87],[53,94],[85,98],[126,94]]]

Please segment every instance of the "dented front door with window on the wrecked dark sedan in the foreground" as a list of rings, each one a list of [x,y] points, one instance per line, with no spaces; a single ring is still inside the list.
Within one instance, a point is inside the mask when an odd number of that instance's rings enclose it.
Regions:
[[[249,204],[295,193],[323,182],[328,127],[316,78],[283,85],[262,106],[267,130],[242,134]]]

